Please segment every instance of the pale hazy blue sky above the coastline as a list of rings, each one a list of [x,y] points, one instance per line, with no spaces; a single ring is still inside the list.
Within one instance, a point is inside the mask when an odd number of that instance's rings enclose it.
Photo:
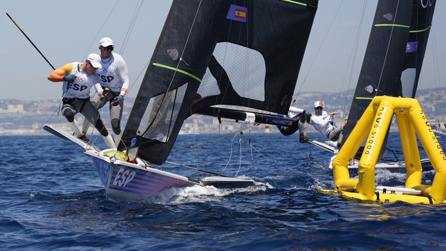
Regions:
[[[87,54],[99,54],[99,40],[110,37],[116,46],[114,52],[121,54],[128,66],[131,86],[128,96],[135,97],[145,73],[144,67],[152,57],[171,3],[171,0],[145,0],[130,33],[133,13],[140,4],[136,0],[1,1],[1,99],[59,99],[62,94],[62,83],[47,80],[53,69],[5,13],[11,15],[56,69],[66,63],[84,62]],[[302,86],[301,92],[339,92],[341,87],[342,90],[347,90],[349,84],[349,88],[355,87],[376,3],[377,0],[367,1],[356,58],[351,59],[351,63],[355,62],[351,71],[349,59],[364,1],[319,1],[296,84],[297,90]],[[115,4],[116,7],[111,12]],[[336,14],[338,8],[339,12]],[[444,88],[444,84],[440,83],[446,77],[446,47],[442,44],[446,41],[442,27],[445,23],[445,10],[446,1],[437,1],[419,82],[421,88]],[[109,14],[110,17],[106,21]],[[126,35],[128,41],[124,44]],[[315,57],[316,60],[310,69]]]

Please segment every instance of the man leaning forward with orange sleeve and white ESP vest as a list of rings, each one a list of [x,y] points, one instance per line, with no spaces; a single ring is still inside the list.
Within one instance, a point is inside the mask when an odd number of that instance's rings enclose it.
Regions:
[[[82,113],[85,119],[95,125],[102,135],[108,147],[113,148],[115,143],[108,134],[104,123],[99,116],[98,110],[90,102],[90,89],[94,85],[97,95],[102,95],[103,89],[99,84],[99,77],[95,73],[102,67],[101,58],[98,54],[89,54],[85,63],[67,63],[63,67],[54,70],[48,75],[48,80],[52,82],[62,82],[62,114],[68,120],[68,125],[78,135],[81,135],[78,122],[74,119],[76,113]],[[83,141],[88,139],[80,137]]]

